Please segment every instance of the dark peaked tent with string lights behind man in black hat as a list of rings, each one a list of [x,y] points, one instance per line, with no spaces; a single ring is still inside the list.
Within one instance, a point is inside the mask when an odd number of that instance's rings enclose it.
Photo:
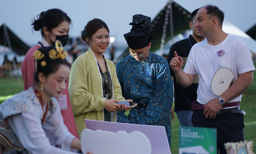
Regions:
[[[162,54],[165,43],[174,36],[190,29],[190,20],[191,13],[189,11],[172,0],[168,1],[151,21],[151,33],[154,35],[154,39],[150,41],[152,43],[150,51],[155,52],[160,48]],[[115,62],[120,61],[122,58],[129,55],[129,53],[130,51],[127,47]]]

